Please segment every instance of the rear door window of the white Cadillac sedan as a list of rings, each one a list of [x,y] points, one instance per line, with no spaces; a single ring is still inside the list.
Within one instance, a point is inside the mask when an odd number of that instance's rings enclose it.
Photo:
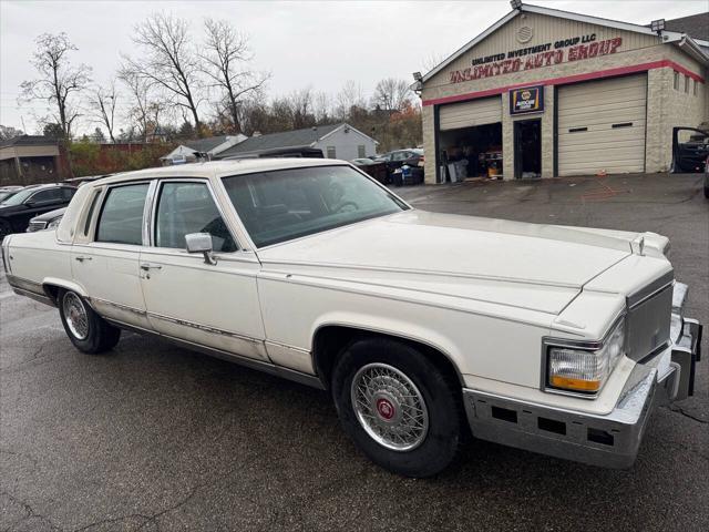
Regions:
[[[96,229],[96,242],[143,244],[143,207],[147,183],[116,186],[109,191]]]

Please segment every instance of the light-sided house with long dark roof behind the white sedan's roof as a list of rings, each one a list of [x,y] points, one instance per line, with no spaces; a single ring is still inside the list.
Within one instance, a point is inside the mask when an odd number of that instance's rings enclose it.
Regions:
[[[321,150],[327,158],[367,157],[377,153],[379,142],[349,124],[318,125],[302,130],[254,135],[225,150],[213,158],[258,157],[275,151]]]

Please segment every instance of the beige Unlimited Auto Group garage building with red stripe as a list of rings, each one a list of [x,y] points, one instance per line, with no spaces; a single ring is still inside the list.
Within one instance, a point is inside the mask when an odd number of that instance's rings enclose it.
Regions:
[[[425,153],[435,154],[427,183],[664,172],[672,127],[708,121],[709,13],[651,28],[511,4],[414,74]]]

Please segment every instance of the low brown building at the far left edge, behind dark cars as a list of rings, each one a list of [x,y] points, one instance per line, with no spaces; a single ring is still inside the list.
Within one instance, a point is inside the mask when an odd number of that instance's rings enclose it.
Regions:
[[[0,142],[0,186],[60,181],[56,139],[21,135]]]

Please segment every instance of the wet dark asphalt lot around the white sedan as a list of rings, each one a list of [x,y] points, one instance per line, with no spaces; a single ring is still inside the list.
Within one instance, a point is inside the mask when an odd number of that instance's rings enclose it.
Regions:
[[[398,190],[429,211],[653,231],[709,324],[701,176]],[[0,280],[0,530],[709,530],[709,356],[613,471],[473,441],[429,480],[345,437],[326,392],[125,334],[73,349],[55,309]],[[705,339],[705,354],[709,346]]]

